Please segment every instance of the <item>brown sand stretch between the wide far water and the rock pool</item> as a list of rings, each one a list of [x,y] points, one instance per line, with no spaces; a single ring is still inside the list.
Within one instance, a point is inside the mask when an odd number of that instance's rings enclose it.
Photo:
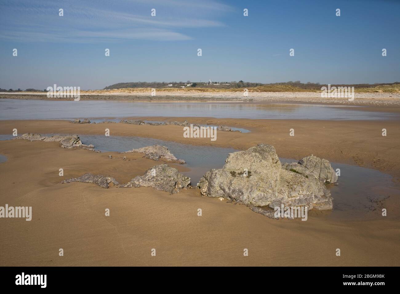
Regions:
[[[398,120],[250,120],[216,118],[147,118],[150,120],[187,119],[199,124],[226,124],[251,130],[250,133],[217,132],[217,140],[184,138],[180,126],[138,126],[131,124],[72,124],[62,120],[4,120],[0,134],[63,133],[101,134],[106,128],[111,136],[140,136],[184,144],[231,147],[240,150],[259,143],[276,148],[278,156],[300,159],[314,154],[332,162],[374,168],[400,179],[400,129]],[[295,136],[289,136],[294,128]],[[387,136],[382,136],[386,128]],[[90,142],[87,142],[90,144]]]

